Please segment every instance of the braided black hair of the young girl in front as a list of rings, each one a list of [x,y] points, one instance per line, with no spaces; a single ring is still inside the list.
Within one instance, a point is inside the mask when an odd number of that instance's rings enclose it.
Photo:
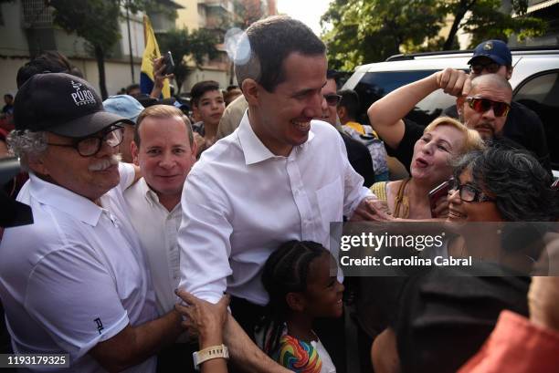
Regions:
[[[270,356],[280,345],[281,330],[289,310],[286,295],[304,292],[311,263],[329,253],[320,243],[293,240],[281,244],[269,255],[262,272],[262,284],[269,294],[268,316],[261,326],[264,328],[264,339],[271,331],[271,343],[265,347]]]

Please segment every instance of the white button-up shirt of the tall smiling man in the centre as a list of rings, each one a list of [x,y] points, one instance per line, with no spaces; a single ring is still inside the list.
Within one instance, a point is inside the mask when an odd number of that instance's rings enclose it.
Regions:
[[[330,246],[330,222],[351,216],[365,196],[340,134],[311,121],[309,139],[288,157],[258,139],[248,114],[190,171],[183,190],[181,287],[216,302],[224,291],[265,305],[264,263],[281,243]]]

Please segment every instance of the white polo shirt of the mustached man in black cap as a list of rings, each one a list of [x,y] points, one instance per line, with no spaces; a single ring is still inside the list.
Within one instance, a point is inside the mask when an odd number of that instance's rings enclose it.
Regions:
[[[156,318],[122,197],[133,168],[120,171],[121,184],[100,198],[103,208],[33,174],[19,193],[35,223],[6,229],[0,244],[0,296],[16,354],[69,353],[70,369],[61,371],[104,372],[90,348]],[[155,363],[131,369],[153,372]]]

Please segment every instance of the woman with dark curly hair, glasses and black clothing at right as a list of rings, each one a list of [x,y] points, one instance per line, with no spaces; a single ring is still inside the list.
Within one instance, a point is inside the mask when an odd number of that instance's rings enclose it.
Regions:
[[[447,235],[448,254],[472,255],[473,264],[433,266],[405,280],[396,316],[374,340],[376,373],[455,372],[480,350],[502,310],[528,316],[531,268],[522,265],[533,264],[540,253],[533,247],[550,225],[522,222],[559,218],[548,172],[528,152],[472,151],[457,162],[448,202],[449,225],[460,234]]]

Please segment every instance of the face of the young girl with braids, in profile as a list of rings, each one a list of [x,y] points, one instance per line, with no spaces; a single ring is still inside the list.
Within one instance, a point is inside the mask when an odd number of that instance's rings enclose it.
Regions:
[[[315,317],[339,317],[343,312],[343,285],[330,275],[330,254],[311,262],[307,276],[306,312]]]

